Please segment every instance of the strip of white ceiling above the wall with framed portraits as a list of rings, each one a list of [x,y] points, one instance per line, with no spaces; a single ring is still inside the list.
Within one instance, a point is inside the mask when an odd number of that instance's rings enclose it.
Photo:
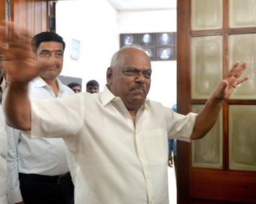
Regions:
[[[117,10],[176,8],[177,0],[108,0]]]

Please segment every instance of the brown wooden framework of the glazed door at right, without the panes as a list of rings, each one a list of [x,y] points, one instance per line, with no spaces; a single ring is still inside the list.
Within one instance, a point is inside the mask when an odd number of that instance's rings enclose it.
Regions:
[[[208,34],[222,34],[224,37],[224,70],[228,68],[228,35],[256,33],[256,28],[229,28],[228,3],[224,4],[224,28],[208,31]],[[191,59],[190,36],[205,31],[191,31],[191,0],[177,1],[177,112],[187,115],[191,104],[205,104],[206,100],[191,99]],[[229,169],[228,158],[228,106],[230,104],[252,104],[255,100],[228,100],[224,103],[224,157],[223,169],[191,167],[191,146],[188,142],[177,142],[177,201],[178,204],[191,203],[256,203],[256,172]],[[218,178],[218,179],[216,179]]]

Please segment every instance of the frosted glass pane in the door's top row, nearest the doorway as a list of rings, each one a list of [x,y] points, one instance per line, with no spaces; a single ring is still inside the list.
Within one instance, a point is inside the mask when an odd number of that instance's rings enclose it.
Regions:
[[[223,27],[222,0],[192,0],[193,31]]]

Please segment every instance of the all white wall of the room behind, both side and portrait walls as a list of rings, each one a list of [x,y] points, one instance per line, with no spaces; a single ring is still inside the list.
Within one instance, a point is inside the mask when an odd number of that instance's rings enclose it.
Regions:
[[[69,13],[68,13],[69,10]],[[176,9],[117,11],[107,0],[58,1],[56,33],[67,43],[62,75],[105,86],[111,56],[119,49],[120,33],[176,31]],[[81,58],[69,55],[69,41],[81,41]],[[151,62],[153,74],[148,98],[167,107],[176,103],[176,61]]]

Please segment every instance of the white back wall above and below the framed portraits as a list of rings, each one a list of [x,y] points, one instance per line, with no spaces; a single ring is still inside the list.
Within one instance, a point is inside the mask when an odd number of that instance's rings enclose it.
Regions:
[[[177,31],[176,9],[120,11],[120,33],[175,32]],[[172,107],[177,98],[177,62],[151,62],[151,90],[148,98]]]

